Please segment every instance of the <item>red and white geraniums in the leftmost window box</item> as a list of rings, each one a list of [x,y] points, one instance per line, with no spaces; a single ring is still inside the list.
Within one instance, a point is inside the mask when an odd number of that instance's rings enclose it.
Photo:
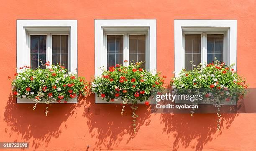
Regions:
[[[45,69],[33,70],[28,66],[20,67],[21,72],[14,74],[15,79],[12,82],[13,95],[32,99],[35,102],[33,110],[36,109],[37,103],[44,102],[47,116],[49,103],[67,103],[78,95],[87,95],[88,85],[83,77],[68,72],[60,64],[50,65],[50,62],[47,62],[42,66]]]

